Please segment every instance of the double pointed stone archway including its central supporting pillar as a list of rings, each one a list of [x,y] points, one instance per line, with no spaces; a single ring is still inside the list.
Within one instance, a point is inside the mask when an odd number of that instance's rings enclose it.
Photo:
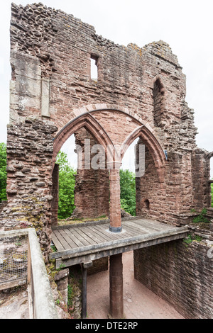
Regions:
[[[87,112],[86,112],[87,111]],[[120,178],[121,159],[126,149],[137,137],[142,137],[153,154],[159,181],[164,179],[165,153],[151,126],[143,125],[141,118],[119,106],[87,106],[74,113],[76,118],[67,122],[57,133],[53,143],[53,166],[60,148],[65,141],[81,128],[85,128],[102,145],[107,155],[110,192],[110,227],[112,232],[121,232]],[[119,147],[119,149],[117,149]]]

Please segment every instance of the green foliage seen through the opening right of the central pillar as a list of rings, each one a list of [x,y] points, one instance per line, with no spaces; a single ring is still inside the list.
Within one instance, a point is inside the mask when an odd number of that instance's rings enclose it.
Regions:
[[[129,170],[120,170],[121,208],[136,215],[136,176]]]

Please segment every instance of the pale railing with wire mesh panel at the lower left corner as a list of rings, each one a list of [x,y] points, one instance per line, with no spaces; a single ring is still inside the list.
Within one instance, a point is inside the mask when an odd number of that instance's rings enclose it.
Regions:
[[[35,229],[0,231],[0,290],[28,284],[30,319],[58,319]]]

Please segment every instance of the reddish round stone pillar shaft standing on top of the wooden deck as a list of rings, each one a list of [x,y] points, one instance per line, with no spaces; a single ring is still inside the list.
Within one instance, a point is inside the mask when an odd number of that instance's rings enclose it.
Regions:
[[[111,232],[121,232],[120,169],[121,164],[109,164],[110,226]]]

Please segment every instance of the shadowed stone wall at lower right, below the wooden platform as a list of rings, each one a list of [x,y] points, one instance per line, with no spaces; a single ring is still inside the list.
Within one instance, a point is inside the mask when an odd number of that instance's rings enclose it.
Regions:
[[[135,278],[187,319],[213,318],[212,267],[212,243],[204,239],[134,251]]]

